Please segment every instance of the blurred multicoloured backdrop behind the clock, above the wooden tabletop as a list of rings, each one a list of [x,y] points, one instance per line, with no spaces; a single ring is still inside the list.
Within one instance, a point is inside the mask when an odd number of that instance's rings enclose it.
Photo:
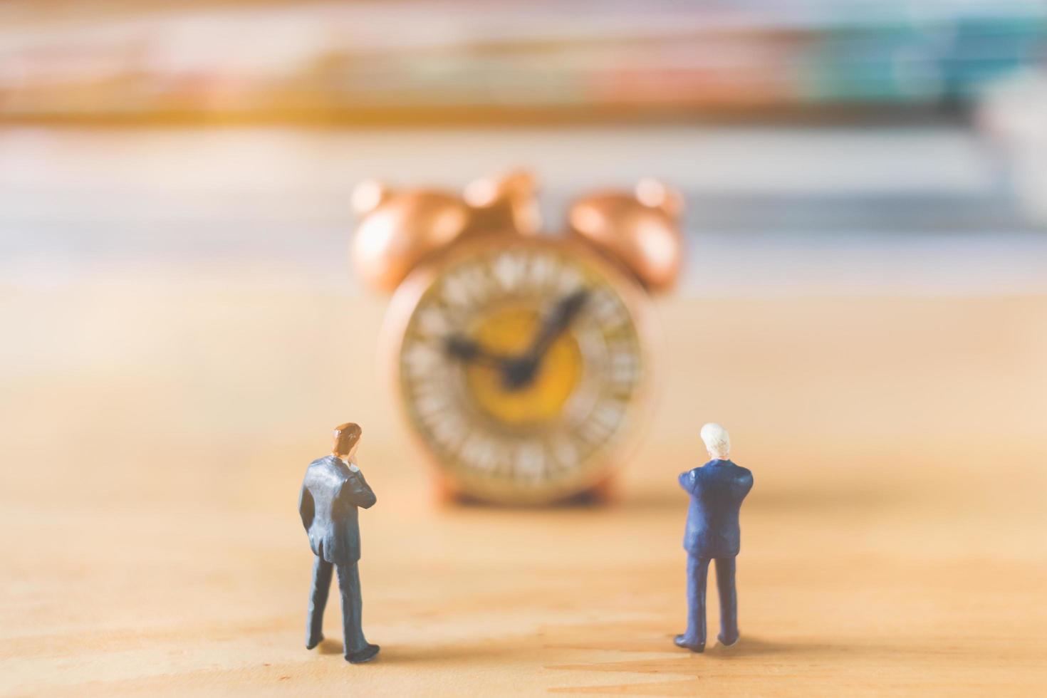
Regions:
[[[586,188],[680,187],[685,292],[1042,290],[1045,45],[1024,0],[8,0],[2,268],[348,288],[357,180],[519,165],[551,229]]]

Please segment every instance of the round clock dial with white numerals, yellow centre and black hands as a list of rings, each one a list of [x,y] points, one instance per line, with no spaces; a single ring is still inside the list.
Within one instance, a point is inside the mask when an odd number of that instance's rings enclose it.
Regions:
[[[413,428],[465,494],[538,503],[592,487],[647,407],[643,291],[569,244],[467,250],[394,299],[409,313],[397,370]]]

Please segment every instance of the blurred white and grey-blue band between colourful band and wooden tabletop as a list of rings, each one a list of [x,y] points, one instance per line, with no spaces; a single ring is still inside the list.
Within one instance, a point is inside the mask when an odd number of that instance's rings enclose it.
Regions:
[[[458,187],[516,164],[540,175],[554,228],[572,196],[647,174],[704,205],[726,197],[691,212],[687,294],[1047,292],[1047,235],[1002,215],[992,229],[1008,206],[1004,163],[954,128],[0,129],[0,280],[148,270],[192,284],[263,269],[241,280],[354,293],[355,182]],[[761,197],[775,202],[770,212],[749,216]],[[984,229],[982,218],[963,231],[935,225],[939,209],[946,222],[967,216],[950,202],[986,202]],[[743,229],[728,229],[742,218]]]

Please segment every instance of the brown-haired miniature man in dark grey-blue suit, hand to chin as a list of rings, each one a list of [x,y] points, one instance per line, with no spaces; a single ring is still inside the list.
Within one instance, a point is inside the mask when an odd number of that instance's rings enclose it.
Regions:
[[[324,639],[324,607],[333,568],[338,571],[338,590],[341,591],[346,660],[354,665],[373,659],[379,649],[364,639],[360,622],[363,602],[357,569],[360,559],[357,508],[369,509],[376,501],[375,493],[353,461],[361,433],[360,427],[352,423],[335,428],[331,455],[309,464],[298,497],[302,524],[309,533],[309,544],[316,555],[306,622],[306,649],[313,649]]]

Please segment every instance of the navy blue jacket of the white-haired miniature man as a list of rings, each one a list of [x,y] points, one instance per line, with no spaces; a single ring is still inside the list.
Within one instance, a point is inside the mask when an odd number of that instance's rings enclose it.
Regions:
[[[753,488],[753,473],[730,460],[710,460],[680,475],[691,495],[684,547],[698,558],[731,558],[741,546],[738,510]]]

